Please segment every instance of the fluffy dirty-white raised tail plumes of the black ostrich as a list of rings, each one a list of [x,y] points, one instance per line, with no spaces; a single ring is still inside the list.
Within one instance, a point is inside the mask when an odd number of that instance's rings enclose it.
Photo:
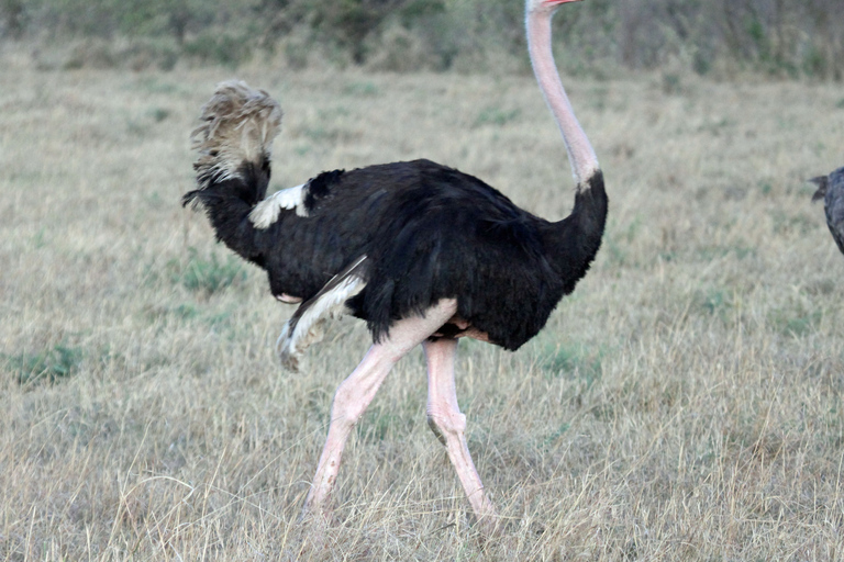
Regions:
[[[199,151],[193,169],[202,190],[230,179],[246,181],[242,170],[269,162],[273,139],[281,128],[281,108],[264,90],[229,80],[216,87],[200,120],[190,136]],[[197,192],[188,193],[184,203],[196,196]]]

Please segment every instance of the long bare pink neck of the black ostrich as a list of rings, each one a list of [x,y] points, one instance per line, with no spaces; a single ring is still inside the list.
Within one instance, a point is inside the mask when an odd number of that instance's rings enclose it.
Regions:
[[[533,11],[528,14],[528,50],[536,81],[566,143],[571,172],[578,186],[584,184],[598,171],[598,157],[580,127],[566,90],[559,81],[551,48],[549,11]]]

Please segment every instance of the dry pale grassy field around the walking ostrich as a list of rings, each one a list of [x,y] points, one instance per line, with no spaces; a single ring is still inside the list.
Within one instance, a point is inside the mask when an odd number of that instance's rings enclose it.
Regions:
[[[844,558],[844,257],[803,181],[844,165],[840,85],[565,79],[606,171],[603,247],[538,337],[463,341],[457,366],[502,539],[471,527],[415,351],[315,544],[299,510],[368,335],[341,321],[281,371],[292,308],[179,206],[231,76],[0,63],[0,560]],[[271,189],[427,157],[570,209],[531,77],[237,76],[286,111]]]

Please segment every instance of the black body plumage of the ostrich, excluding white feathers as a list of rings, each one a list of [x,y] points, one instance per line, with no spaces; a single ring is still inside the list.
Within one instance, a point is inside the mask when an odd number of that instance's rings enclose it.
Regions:
[[[324,172],[307,184],[307,217],[284,210],[257,229],[248,214],[268,170],[244,169],[245,181],[211,183],[186,202],[202,202],[218,238],[266,269],[276,295],[308,300],[368,256],[367,286],[348,307],[376,340],[393,321],[457,297],[462,318],[518,349],[586,274],[607,215],[600,173],[570,216],[549,223],[471,176],[415,160]]]

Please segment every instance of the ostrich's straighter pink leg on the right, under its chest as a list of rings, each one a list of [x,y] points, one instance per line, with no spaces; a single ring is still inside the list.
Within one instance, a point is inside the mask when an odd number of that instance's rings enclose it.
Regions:
[[[466,445],[466,416],[457,406],[454,386],[454,356],[457,340],[442,338],[422,344],[427,360],[427,424],[445,445],[463,490],[469,498],[480,525],[493,530],[497,522],[496,508],[484,493],[475,463],[471,462]]]

